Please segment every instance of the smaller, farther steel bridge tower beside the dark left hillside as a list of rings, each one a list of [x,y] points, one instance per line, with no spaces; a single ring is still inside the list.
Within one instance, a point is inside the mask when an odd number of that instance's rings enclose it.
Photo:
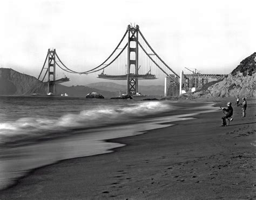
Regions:
[[[55,67],[56,67],[56,50],[48,49],[48,90],[47,93],[51,92],[55,94]]]

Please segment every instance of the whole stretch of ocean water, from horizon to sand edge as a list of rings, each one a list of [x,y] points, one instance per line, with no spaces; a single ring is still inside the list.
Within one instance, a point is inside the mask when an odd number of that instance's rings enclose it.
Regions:
[[[124,146],[108,139],[143,134],[215,110],[196,102],[0,97],[0,190],[34,168]]]

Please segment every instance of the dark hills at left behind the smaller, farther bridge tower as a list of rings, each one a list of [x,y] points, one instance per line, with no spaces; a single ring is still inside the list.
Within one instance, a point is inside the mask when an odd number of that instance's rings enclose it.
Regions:
[[[95,91],[105,98],[117,96],[117,92],[93,89],[85,86],[67,87],[56,84],[56,95],[67,93],[69,96],[85,97],[88,93]],[[0,95],[31,95],[38,93],[46,95],[47,84],[38,81],[36,77],[16,72],[9,68],[0,68]]]

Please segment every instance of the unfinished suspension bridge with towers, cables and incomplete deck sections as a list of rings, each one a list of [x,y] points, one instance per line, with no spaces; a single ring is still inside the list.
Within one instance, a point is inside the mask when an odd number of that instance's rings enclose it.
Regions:
[[[208,82],[208,78],[220,79],[225,76],[195,73],[184,75],[183,72],[179,76],[153,50],[139,30],[138,25],[128,25],[122,39],[109,57],[99,66],[84,72],[77,72],[67,67],[64,62],[60,60],[56,49],[48,49],[44,65],[38,76],[38,80],[48,84],[48,93],[51,92],[55,94],[55,84],[69,81],[68,77],[56,78],[57,67],[64,72],[72,74],[98,73],[98,78],[126,80],[127,95],[138,94],[139,80],[154,80],[160,75],[164,75],[165,78],[169,80],[169,83],[165,81],[166,88],[171,85],[172,87],[178,87],[179,94],[181,94],[182,89],[186,90],[186,88],[192,87],[193,83],[194,86],[198,87]]]

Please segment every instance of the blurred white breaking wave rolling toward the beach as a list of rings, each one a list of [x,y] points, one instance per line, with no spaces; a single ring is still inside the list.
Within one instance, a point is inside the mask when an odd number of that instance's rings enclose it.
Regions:
[[[78,114],[69,113],[59,118],[19,118],[15,122],[0,123],[0,144],[16,142],[44,135],[54,137],[56,133],[68,134],[77,128],[84,130],[117,123],[128,123],[134,117],[154,115],[170,109],[164,102],[143,102],[123,108],[101,106],[97,109],[83,110]]]

